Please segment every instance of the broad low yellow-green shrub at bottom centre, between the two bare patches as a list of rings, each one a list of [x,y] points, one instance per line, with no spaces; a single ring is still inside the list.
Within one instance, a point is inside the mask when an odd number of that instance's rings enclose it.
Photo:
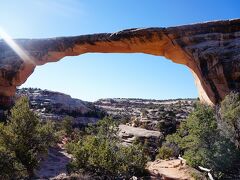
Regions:
[[[126,147],[96,136],[87,136],[68,148],[75,158],[68,166],[70,171],[84,169],[97,174],[128,177],[143,172],[147,162],[140,146]]]

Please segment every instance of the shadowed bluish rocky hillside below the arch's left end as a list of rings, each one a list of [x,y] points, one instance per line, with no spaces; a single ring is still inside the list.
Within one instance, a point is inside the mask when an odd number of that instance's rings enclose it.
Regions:
[[[20,96],[29,98],[31,109],[43,120],[58,121],[66,116],[71,116],[74,125],[85,125],[95,123],[104,115],[104,112],[94,104],[60,92],[22,88],[17,89],[16,92],[16,97]]]

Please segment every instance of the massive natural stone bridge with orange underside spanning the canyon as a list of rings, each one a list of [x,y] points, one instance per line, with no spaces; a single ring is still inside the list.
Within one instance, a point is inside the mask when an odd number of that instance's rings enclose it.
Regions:
[[[92,52],[146,53],[184,64],[195,77],[200,99],[209,104],[240,91],[240,19],[49,39],[1,36],[0,103],[5,106],[37,65]]]

